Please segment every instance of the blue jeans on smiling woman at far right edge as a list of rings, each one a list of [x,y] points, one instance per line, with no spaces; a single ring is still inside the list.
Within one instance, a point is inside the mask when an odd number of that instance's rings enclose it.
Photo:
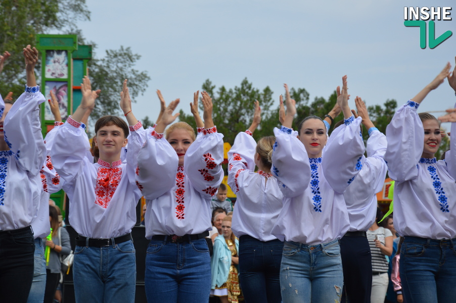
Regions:
[[[456,301],[455,239],[432,240],[405,236],[399,272],[404,301]]]

